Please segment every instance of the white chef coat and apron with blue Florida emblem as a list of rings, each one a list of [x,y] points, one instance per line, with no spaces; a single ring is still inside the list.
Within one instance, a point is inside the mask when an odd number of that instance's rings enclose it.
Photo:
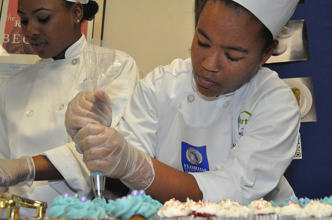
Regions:
[[[176,59],[138,83],[117,129],[136,149],[194,175],[204,200],[282,202],[294,196],[283,174],[296,150],[300,111],[276,72],[261,68],[248,81],[205,97],[191,59]]]

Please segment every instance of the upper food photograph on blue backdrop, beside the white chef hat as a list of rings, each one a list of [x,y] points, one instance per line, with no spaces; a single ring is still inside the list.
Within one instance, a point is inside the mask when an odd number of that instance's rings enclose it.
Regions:
[[[290,20],[280,31],[278,46],[266,63],[309,60],[308,35],[305,20]]]

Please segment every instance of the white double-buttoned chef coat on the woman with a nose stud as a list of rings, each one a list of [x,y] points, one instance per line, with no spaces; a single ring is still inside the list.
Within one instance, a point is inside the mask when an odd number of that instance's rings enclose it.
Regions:
[[[46,155],[66,179],[50,181],[50,184],[48,181],[36,181],[31,188],[10,187],[9,193],[45,201],[49,206],[59,194],[79,192],[81,196],[89,196],[91,183],[86,177],[89,172],[64,126],[68,102],[78,92],[89,90],[83,59],[85,45],[82,34],[66,50],[65,59],[41,59],[3,83],[0,94],[0,157],[16,159],[22,155]],[[111,127],[119,123],[139,80],[136,62],[122,51],[116,50],[113,71],[116,79],[104,88],[113,103]],[[35,215],[36,210],[20,208],[20,216]]]

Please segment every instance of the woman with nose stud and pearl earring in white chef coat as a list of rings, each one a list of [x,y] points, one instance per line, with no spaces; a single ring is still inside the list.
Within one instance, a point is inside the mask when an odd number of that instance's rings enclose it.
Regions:
[[[82,172],[85,164],[82,168],[77,163],[82,155],[74,157],[78,154],[74,143],[73,150],[70,144],[65,145],[72,140],[63,124],[68,102],[78,92],[88,91],[83,59],[87,42],[80,26],[92,20],[97,11],[98,4],[88,0],[18,1],[22,32],[42,59],[10,76],[1,88],[0,158],[6,159],[0,159],[0,186],[4,190],[9,187],[9,193],[51,204],[62,193],[90,192],[91,186],[85,188],[89,178],[72,178],[72,173]],[[106,87],[114,104],[112,127],[120,121],[139,79],[132,57],[115,52],[113,71],[117,78]],[[59,172],[40,170],[52,166],[50,161]],[[66,181],[34,182],[41,177]],[[20,215],[32,217],[35,213],[21,208]]]

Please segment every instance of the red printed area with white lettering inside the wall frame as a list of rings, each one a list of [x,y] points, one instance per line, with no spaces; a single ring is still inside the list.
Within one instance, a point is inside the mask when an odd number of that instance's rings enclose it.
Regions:
[[[4,29],[4,39],[1,53],[36,54],[22,34],[20,17],[17,14],[18,0],[8,0],[8,10]],[[82,33],[87,36],[88,22],[81,24]]]

